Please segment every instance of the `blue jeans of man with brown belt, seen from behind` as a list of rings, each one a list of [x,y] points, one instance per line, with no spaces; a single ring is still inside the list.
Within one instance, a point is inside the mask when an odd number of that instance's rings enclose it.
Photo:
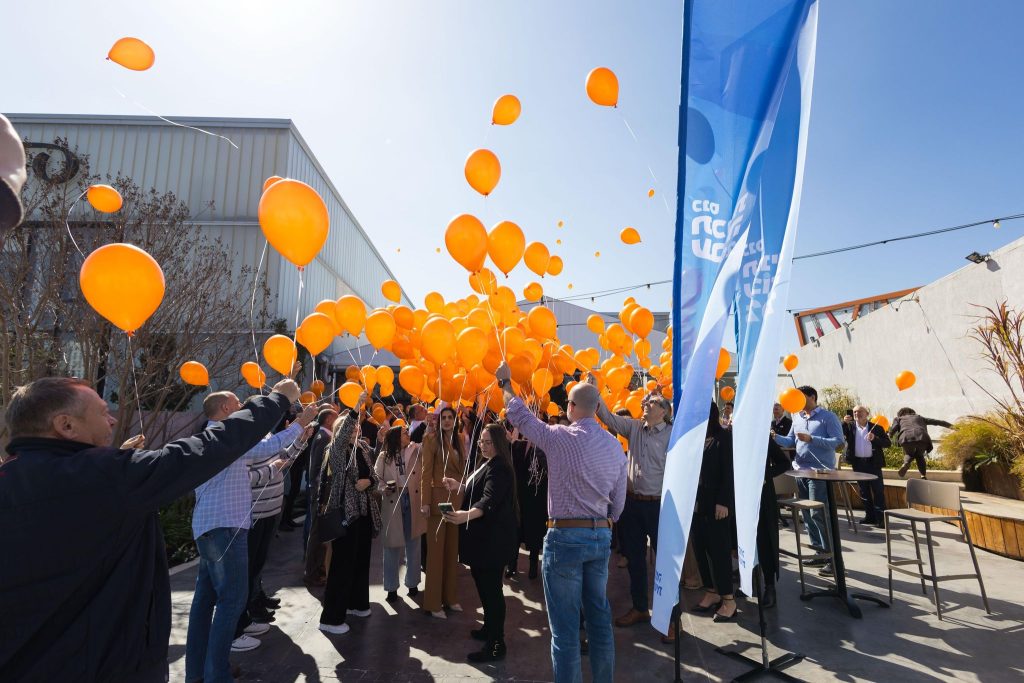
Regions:
[[[544,538],[544,598],[556,683],[583,680],[581,604],[587,621],[594,683],[614,680],[615,644],[606,592],[610,545],[608,528],[552,528]]]

